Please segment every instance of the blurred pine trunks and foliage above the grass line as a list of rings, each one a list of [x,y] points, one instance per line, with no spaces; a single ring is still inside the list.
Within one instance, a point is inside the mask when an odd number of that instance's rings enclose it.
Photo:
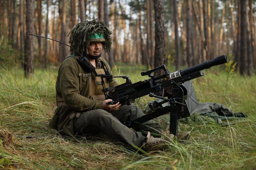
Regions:
[[[192,66],[226,54],[242,75],[255,72],[255,0],[0,0],[0,65],[59,65],[70,53],[70,29],[93,17],[113,31],[116,62]]]

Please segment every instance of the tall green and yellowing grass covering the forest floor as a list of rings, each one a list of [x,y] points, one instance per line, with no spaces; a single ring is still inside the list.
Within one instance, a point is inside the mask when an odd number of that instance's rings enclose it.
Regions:
[[[145,67],[119,64],[113,74],[129,75],[135,83],[148,78],[141,71]],[[229,71],[205,70],[205,76],[193,80],[197,97],[201,103],[221,103],[244,112],[247,118],[221,126],[194,114],[179,124],[181,132],[192,130],[187,140],[172,140],[164,151],[140,153],[102,134],[64,138],[47,126],[56,107],[57,68],[35,70],[31,79],[20,69],[2,68],[0,169],[256,169],[256,77]],[[144,110],[150,100],[154,99],[142,97],[136,105]],[[156,121],[165,128],[169,115]]]

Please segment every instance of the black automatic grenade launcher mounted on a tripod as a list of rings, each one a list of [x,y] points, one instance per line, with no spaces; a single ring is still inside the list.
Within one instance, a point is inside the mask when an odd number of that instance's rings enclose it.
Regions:
[[[115,104],[120,102],[122,105],[131,105],[136,98],[149,95],[150,97],[157,97],[162,99],[161,102],[154,102],[149,107],[151,112],[134,119],[129,122],[123,122],[128,127],[144,123],[148,120],[154,119],[160,115],[170,113],[170,133],[178,134],[178,121],[183,117],[193,114],[198,107],[198,101],[193,90],[190,80],[203,76],[202,70],[210,68],[215,65],[227,63],[226,55],[221,55],[213,60],[205,61],[199,65],[189,67],[184,70],[169,73],[165,65],[161,65],[152,70],[141,72],[141,75],[148,75],[150,79],[132,83],[129,76],[112,76],[112,75],[98,75],[102,80],[102,92],[106,99],[112,99],[108,104]],[[163,69],[164,74],[155,77],[153,72]],[[126,82],[115,86],[105,88],[103,78],[124,78]],[[189,92],[189,93],[188,93]],[[195,100],[191,100],[191,94],[195,96]],[[167,105],[168,104],[168,105]],[[163,107],[163,105],[166,105]]]

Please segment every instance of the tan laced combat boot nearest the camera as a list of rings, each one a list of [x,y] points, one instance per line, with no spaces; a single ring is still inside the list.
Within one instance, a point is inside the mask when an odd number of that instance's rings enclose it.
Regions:
[[[170,141],[174,135],[169,134],[166,137],[153,137],[150,132],[147,132],[146,142],[142,144],[142,149],[145,151],[163,150],[168,147],[166,141]]]

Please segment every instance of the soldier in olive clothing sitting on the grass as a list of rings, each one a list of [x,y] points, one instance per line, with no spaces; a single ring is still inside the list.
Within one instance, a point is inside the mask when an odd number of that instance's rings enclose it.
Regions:
[[[85,21],[75,25],[70,31],[69,43],[82,56],[86,56],[95,67],[97,74],[105,74],[104,69],[111,72],[108,63],[100,57],[102,50],[111,49],[112,32],[104,22],[98,19]],[[145,150],[161,149],[165,142],[159,132],[161,127],[151,121],[136,125],[133,130],[121,122],[141,117],[143,112],[135,105],[118,103],[107,105],[112,101],[105,100],[102,92],[101,78],[92,79],[91,73],[79,65],[79,54],[70,48],[71,56],[67,57],[59,67],[56,81],[57,108],[49,123],[51,128],[61,134],[90,135],[103,133],[110,138],[125,144],[143,146]],[[113,79],[105,80],[106,87],[118,85]],[[153,137],[156,135],[157,137]],[[173,135],[169,135],[173,138]]]

